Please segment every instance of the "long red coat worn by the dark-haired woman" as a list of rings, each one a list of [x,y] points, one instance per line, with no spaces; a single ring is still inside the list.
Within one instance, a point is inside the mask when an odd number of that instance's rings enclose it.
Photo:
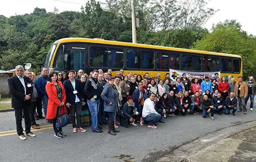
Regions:
[[[65,88],[63,87],[61,81],[57,81],[62,89],[62,102],[66,102]],[[57,108],[61,104],[61,101],[57,98],[57,89],[52,81],[46,84],[46,93],[49,97],[47,106],[47,119],[57,118]],[[66,106],[61,107],[61,115],[63,112],[67,113]]]

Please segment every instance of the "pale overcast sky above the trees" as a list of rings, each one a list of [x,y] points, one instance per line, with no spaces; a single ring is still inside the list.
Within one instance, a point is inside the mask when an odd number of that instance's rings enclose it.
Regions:
[[[71,1],[71,4],[61,1]],[[54,7],[62,11],[81,11],[81,4],[88,0],[2,0],[0,5],[0,15],[10,17],[15,14],[25,14],[34,11],[35,7],[45,8],[47,12],[53,12]],[[105,2],[105,0],[99,0]],[[216,24],[225,19],[236,19],[242,25],[242,29],[248,34],[256,35],[255,6],[256,0],[211,0],[209,7],[219,9],[219,11],[204,25],[211,29]]]

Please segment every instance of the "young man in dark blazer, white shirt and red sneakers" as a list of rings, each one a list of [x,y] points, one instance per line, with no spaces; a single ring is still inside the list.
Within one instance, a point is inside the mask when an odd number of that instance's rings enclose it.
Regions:
[[[81,123],[81,109],[82,104],[85,104],[82,100],[83,88],[81,86],[81,81],[74,79],[74,71],[70,70],[67,72],[69,79],[64,82],[64,88],[66,91],[66,106],[70,109],[70,118],[73,124],[72,132],[77,131],[86,132],[82,128]],[[76,113],[77,125],[75,123],[74,114]]]

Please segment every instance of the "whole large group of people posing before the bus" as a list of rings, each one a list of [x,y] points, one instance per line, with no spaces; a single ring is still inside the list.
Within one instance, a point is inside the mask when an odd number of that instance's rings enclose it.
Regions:
[[[23,76],[25,72],[25,76]],[[238,82],[231,76],[201,75],[200,79],[182,74],[175,81],[166,73],[165,79],[160,74],[151,77],[129,72],[124,75],[121,69],[112,76],[112,69],[103,72],[93,70],[89,75],[82,69],[77,72],[55,72],[54,67],[42,68],[41,75],[34,80],[34,73],[24,71],[22,66],[15,68],[16,75],[8,79],[10,92],[13,94],[12,106],[15,110],[17,133],[21,140],[26,137],[21,126],[21,116],[24,114],[25,132],[27,136],[35,137],[30,127],[39,129],[36,118],[44,116],[47,122],[53,124],[54,136],[66,137],[62,129],[56,128],[58,115],[67,113],[71,118],[72,132],[86,132],[85,126],[92,125],[92,131],[101,133],[101,125],[108,125],[108,133],[116,135],[120,132],[118,125],[128,128],[129,125],[147,124],[148,128],[156,129],[157,123],[165,123],[168,116],[186,114],[196,115],[202,112],[202,117],[218,113],[235,115],[237,103],[238,112],[247,113],[246,104],[251,100],[250,110],[253,110],[253,100],[256,94],[256,83],[253,76],[248,82],[238,77]],[[42,106],[40,106],[42,105]],[[59,112],[61,114],[59,114]]]

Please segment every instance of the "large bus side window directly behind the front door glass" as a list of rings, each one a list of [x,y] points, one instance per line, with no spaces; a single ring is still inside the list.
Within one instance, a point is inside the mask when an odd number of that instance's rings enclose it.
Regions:
[[[90,47],[90,66],[95,68],[123,68],[123,50]]]

